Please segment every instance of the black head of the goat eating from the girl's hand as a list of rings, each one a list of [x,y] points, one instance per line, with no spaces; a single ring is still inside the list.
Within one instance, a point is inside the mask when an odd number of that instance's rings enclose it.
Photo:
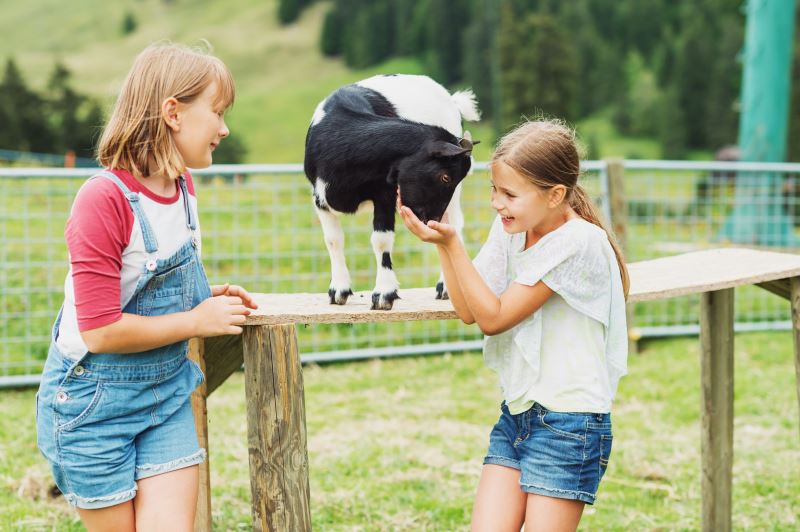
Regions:
[[[472,165],[472,140],[469,132],[458,144],[446,140],[427,141],[422,149],[400,159],[389,174],[389,181],[400,189],[403,204],[422,223],[442,219],[459,183]]]

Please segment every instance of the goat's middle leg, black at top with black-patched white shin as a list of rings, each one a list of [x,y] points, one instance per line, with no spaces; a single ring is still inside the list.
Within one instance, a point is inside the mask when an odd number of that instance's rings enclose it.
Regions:
[[[372,291],[372,310],[391,310],[400,284],[392,269],[392,248],[394,247],[394,210],[395,197],[386,194],[374,200],[372,217],[372,251],[375,253],[377,275],[375,289]]]

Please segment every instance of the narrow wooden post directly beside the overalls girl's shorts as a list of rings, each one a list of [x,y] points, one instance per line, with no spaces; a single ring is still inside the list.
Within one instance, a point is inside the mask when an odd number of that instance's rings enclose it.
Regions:
[[[204,340],[192,338],[189,340],[189,360],[200,366],[203,374],[205,368]],[[211,453],[208,448],[208,410],[206,398],[208,397],[206,383],[204,382],[192,392],[192,411],[194,412],[194,426],[197,431],[197,440],[200,447],[206,450],[206,459],[200,464],[200,484],[197,491],[197,513],[195,514],[195,532],[211,532],[211,478],[209,463]]]

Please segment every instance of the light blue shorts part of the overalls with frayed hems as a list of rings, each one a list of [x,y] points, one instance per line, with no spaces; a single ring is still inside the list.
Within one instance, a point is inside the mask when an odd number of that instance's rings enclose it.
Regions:
[[[121,366],[102,356],[78,362],[51,346],[36,395],[39,449],[67,501],[87,509],[131,500],[137,480],[205,459],[191,404],[200,368],[185,354]]]

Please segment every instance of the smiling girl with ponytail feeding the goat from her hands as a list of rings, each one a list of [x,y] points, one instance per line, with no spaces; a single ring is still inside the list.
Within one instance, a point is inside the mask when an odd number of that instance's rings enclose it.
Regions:
[[[400,216],[437,246],[453,307],[486,335],[503,393],[473,508],[473,530],[575,530],[594,504],[627,368],[622,252],[578,184],[575,133],[522,124],[491,161],[497,211],[470,260],[452,226]]]

